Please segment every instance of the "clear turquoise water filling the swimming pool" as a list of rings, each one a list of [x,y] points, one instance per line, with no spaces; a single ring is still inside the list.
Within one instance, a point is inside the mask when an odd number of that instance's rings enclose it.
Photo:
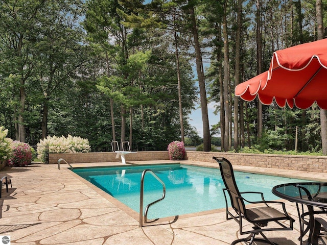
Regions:
[[[151,206],[149,218],[175,216],[225,207],[222,188],[224,183],[220,170],[181,164],[147,166],[74,168],[74,172],[106,191],[115,199],[139,212],[141,175],[144,169],[151,169],[166,185],[166,198]],[[240,191],[259,191],[265,200],[276,200],[271,189],[275,185],[290,182],[305,182],[268,175],[235,172]],[[144,180],[144,208],[161,198],[162,185],[149,173]],[[260,199],[246,196],[248,200]]]

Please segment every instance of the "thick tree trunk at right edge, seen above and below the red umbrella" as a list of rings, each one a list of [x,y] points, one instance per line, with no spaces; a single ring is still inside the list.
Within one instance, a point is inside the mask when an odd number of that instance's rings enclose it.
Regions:
[[[324,38],[323,30],[323,18],[322,18],[322,1],[317,0],[316,2],[316,13],[317,13],[317,34],[318,40]],[[320,126],[321,126],[321,145],[322,154],[327,155],[327,110],[320,108]]]

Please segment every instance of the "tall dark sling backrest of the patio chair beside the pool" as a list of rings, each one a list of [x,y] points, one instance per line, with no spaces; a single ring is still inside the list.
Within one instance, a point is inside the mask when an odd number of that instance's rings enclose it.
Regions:
[[[219,163],[221,177],[229,194],[232,208],[244,214],[245,204],[241,198],[239,188],[237,187],[231,163],[226,158],[213,157],[213,159]]]

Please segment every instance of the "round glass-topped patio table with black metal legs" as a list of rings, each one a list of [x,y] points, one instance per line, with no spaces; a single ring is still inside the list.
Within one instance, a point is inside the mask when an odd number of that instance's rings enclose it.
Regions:
[[[300,244],[303,236],[309,231],[307,245],[311,245],[314,226],[314,214],[327,213],[327,183],[326,182],[298,182],[276,185],[272,193],[277,197],[296,203],[300,222]],[[303,206],[306,205],[308,211]],[[314,210],[318,207],[318,210]],[[306,228],[305,228],[305,225]]]

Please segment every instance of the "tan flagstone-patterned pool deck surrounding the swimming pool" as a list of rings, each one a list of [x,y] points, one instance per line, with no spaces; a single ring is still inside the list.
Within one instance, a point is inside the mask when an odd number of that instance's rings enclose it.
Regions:
[[[217,167],[217,164],[207,162],[181,163]],[[119,163],[72,165],[104,166]],[[301,171],[233,167],[252,173],[308,180],[323,181],[327,177],[327,174]],[[12,188],[9,186],[8,193],[4,187],[2,189],[0,235],[11,236],[11,244],[207,245],[230,244],[239,237],[245,237],[239,234],[238,224],[234,220],[226,220],[225,209],[166,218],[139,228],[136,212],[72,173],[65,164],[61,164],[60,170],[57,164],[40,163],[27,167],[6,167],[0,171],[0,176],[4,175],[11,177]],[[286,201],[286,208],[296,219],[293,231],[265,234],[281,245],[300,244],[297,240],[299,223],[295,205]]]

